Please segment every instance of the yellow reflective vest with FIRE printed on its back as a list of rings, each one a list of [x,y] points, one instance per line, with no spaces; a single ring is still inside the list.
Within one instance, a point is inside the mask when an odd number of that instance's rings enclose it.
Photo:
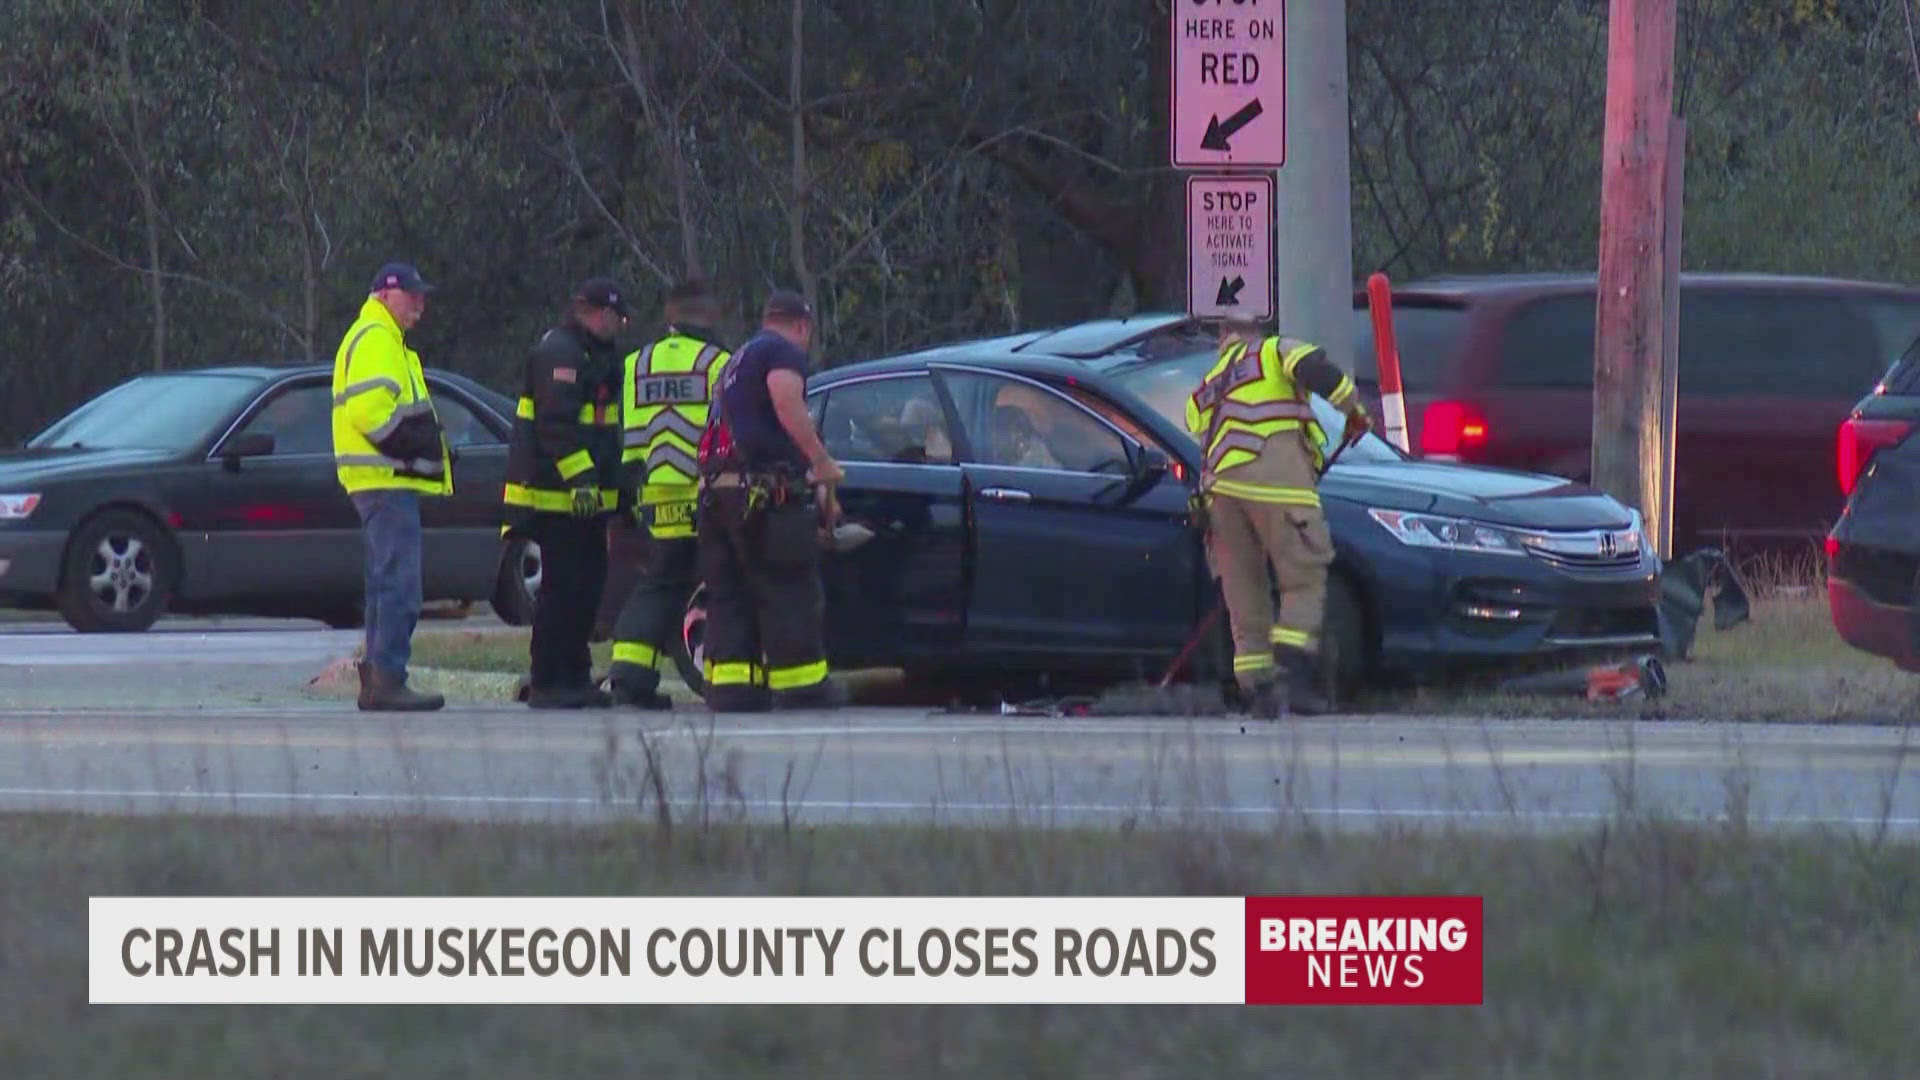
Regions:
[[[668,334],[626,357],[620,461],[649,507],[653,536],[693,536],[701,432],[732,354]]]

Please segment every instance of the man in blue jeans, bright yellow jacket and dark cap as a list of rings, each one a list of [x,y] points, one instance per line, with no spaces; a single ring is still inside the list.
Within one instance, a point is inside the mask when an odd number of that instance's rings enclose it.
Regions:
[[[407,688],[420,623],[420,496],[453,494],[453,461],[420,357],[405,334],[432,286],[407,263],[374,275],[334,356],[334,471],[361,519],[367,646],[359,707],[432,711],[440,694]]]

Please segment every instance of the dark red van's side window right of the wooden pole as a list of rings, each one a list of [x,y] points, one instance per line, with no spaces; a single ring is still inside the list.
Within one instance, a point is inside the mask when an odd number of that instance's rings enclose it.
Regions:
[[[1887,363],[1839,294],[1718,290],[1680,300],[1680,390],[1837,396],[1872,390]]]

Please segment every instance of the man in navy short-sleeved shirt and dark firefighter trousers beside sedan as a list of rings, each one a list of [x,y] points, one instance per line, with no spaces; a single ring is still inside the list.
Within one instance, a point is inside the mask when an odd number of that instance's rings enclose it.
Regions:
[[[814,311],[781,290],[766,300],[760,325],[728,363],[720,411],[701,440],[697,528],[714,711],[843,701],[828,678],[820,584],[820,525],[843,471],[806,409]]]

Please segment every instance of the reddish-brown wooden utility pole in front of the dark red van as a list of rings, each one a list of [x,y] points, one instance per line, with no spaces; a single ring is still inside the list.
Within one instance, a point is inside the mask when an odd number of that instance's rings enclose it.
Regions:
[[[1670,521],[1663,505],[1668,440],[1661,413],[1672,92],[1674,0],[1611,0],[1594,311],[1594,486],[1638,507],[1651,536]]]

